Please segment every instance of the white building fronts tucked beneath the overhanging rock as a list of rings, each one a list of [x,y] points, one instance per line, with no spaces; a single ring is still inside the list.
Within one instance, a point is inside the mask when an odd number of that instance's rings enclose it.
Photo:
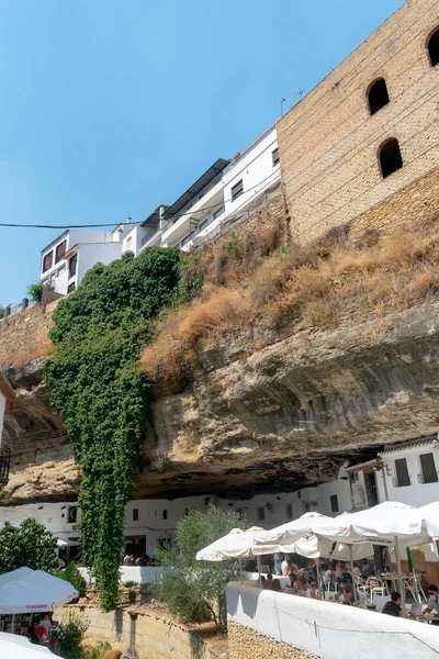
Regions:
[[[132,500],[125,513],[125,551],[153,556],[164,543],[172,541],[176,524],[188,510],[205,511],[211,504],[239,513],[251,526],[274,528],[304,513],[336,516],[384,503],[426,505],[439,501],[439,439],[437,435],[395,444],[368,462],[340,468],[334,481],[295,492],[258,494],[251,499],[215,495],[180,499]],[[44,502],[0,509],[0,526],[33,517],[58,538],[66,558],[80,552],[80,510],[76,502]],[[418,548],[417,568],[427,582],[439,580],[439,559],[429,548]],[[405,566],[408,569],[408,562]]]

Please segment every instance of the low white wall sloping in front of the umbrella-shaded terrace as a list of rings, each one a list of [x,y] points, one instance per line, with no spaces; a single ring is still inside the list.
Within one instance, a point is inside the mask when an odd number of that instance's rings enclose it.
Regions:
[[[322,659],[438,656],[439,628],[330,602],[227,585],[228,617]]]

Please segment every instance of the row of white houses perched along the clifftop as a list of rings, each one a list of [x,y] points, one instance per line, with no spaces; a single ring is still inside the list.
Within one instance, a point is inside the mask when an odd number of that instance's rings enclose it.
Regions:
[[[65,231],[42,250],[40,280],[65,295],[95,264],[108,265],[125,252],[137,256],[151,246],[189,250],[195,236],[214,237],[219,223],[239,213],[280,176],[274,125],[233,160],[218,158],[177,201],[158,206],[144,222],[126,222],[114,231]]]

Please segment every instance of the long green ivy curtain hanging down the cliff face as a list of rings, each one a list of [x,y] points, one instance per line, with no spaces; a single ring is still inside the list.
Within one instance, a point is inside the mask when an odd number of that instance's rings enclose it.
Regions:
[[[55,313],[54,356],[45,378],[65,420],[81,473],[81,544],[105,610],[114,607],[125,505],[133,490],[148,415],[148,381],[138,367],[151,321],[172,304],[178,249],[150,247],[97,265]]]

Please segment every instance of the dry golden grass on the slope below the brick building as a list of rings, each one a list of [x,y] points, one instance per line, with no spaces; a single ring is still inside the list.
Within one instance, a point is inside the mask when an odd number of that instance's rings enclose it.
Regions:
[[[294,317],[312,330],[363,316],[389,328],[382,321],[389,313],[437,299],[438,244],[439,223],[430,219],[390,235],[369,231],[351,239],[333,232],[311,246],[283,247],[247,278],[209,283],[192,305],[168,314],[143,354],[144,368],[154,379],[171,377],[195,356],[199,342],[214,345],[262,319]]]

